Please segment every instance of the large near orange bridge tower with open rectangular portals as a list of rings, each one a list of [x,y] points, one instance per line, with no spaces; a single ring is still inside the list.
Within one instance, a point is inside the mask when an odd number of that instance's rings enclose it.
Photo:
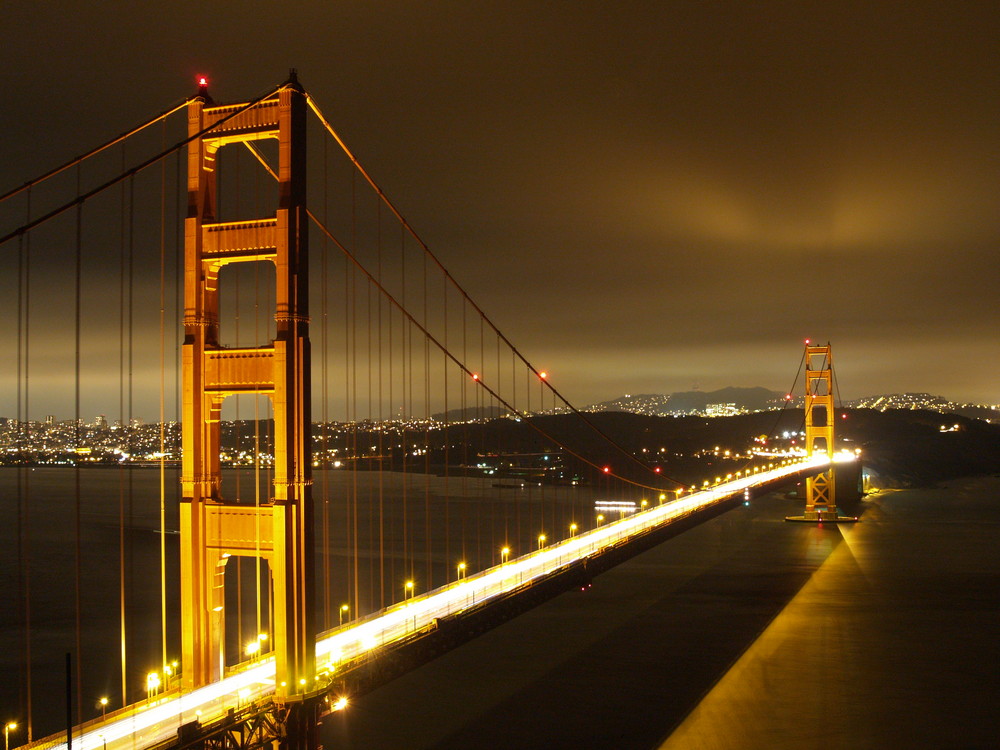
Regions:
[[[271,577],[276,696],[294,703],[309,694],[315,677],[305,94],[294,75],[252,107],[215,106],[204,82],[201,94],[188,105],[182,684],[191,690],[222,677],[225,566],[232,556],[259,556]],[[278,142],[275,214],[218,221],[219,149],[267,138]],[[229,263],[253,261],[275,266],[275,338],[265,346],[225,348],[219,343],[219,272]],[[223,400],[236,394],[265,394],[273,403],[273,494],[258,506],[227,502],[221,493],[219,419]]]

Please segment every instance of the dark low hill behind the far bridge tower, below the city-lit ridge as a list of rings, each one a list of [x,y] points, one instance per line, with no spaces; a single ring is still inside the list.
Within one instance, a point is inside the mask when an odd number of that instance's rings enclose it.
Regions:
[[[877,487],[933,486],[956,477],[1000,472],[1000,425],[924,410],[847,409],[841,413],[847,418],[838,420],[838,445],[862,449],[866,471]],[[699,458],[697,452],[713,446],[741,452],[752,444],[754,436],[798,432],[803,429],[804,415],[801,408],[716,419],[607,411],[588,414],[587,420],[627,453],[643,456],[651,452],[664,476],[691,483],[737,471],[745,461],[712,453]],[[461,435],[469,445],[504,445],[512,453],[552,451],[559,443],[571,445],[594,464],[613,465],[622,475],[631,470],[617,449],[572,414],[521,422],[498,419],[452,430],[453,440]],[[438,441],[446,434],[443,430],[431,433]],[[572,463],[570,457],[563,456],[563,460]],[[641,479],[641,474],[636,478]]]

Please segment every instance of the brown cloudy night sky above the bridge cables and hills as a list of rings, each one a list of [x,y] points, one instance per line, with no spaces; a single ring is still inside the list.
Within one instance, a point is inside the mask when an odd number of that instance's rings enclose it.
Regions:
[[[296,67],[574,403],[782,390],[806,337],[844,398],[1000,402],[990,3],[73,0],[0,25],[0,191],[197,74],[239,101]]]

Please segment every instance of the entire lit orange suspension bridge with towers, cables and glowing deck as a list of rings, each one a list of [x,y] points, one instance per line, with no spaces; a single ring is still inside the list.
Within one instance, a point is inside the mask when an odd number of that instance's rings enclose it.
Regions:
[[[675,475],[518,350],[294,74],[224,105],[202,80],[0,206],[15,745],[315,748],[679,525],[797,479],[790,520],[855,520],[829,345],[794,451]]]

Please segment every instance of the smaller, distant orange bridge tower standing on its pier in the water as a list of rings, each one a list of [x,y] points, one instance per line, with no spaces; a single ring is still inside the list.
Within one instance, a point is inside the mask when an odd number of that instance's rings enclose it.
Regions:
[[[827,468],[814,476],[806,477],[806,507],[801,516],[786,516],[786,521],[807,523],[854,523],[856,516],[842,516],[836,503],[836,464],[834,454],[833,405],[833,352],[826,346],[806,342],[805,351],[806,398],[805,431],[806,458],[825,454],[830,460]],[[817,365],[818,362],[818,366]]]

